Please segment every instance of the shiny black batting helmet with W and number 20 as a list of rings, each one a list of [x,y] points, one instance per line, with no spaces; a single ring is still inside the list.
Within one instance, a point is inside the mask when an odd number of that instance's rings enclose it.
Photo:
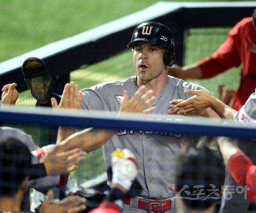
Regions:
[[[141,23],[134,30],[131,42],[127,44],[127,47],[134,48],[134,43],[140,40],[167,47],[163,58],[164,64],[172,66],[175,58],[174,38],[166,25],[155,21]]]

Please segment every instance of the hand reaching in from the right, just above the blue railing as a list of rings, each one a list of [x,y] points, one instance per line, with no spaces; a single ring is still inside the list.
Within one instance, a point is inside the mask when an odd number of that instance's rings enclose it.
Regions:
[[[175,99],[170,101],[171,104],[175,104],[174,109],[169,112],[174,114],[185,115],[203,115],[205,109],[211,106],[211,98],[214,98],[209,92],[205,90],[191,90],[185,89],[188,94],[194,94],[194,96],[182,100]]]

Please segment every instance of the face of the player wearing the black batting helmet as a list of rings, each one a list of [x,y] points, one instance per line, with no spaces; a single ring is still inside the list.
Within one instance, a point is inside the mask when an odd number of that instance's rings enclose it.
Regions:
[[[154,44],[138,41],[134,45],[134,66],[138,78],[142,81],[151,81],[162,74],[165,64],[163,61],[166,48]]]

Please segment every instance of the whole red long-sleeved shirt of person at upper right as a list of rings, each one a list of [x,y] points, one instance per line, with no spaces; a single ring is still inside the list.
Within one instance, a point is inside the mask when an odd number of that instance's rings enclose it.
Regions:
[[[239,21],[211,56],[197,62],[202,70],[202,78],[215,76],[240,64],[241,80],[232,106],[237,111],[256,87],[256,29],[252,25],[252,17]]]

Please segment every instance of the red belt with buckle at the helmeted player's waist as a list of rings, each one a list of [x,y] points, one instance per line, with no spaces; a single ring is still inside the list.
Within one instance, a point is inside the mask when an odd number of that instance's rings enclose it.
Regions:
[[[130,205],[130,198],[125,197],[124,198],[124,203],[126,205]],[[172,201],[160,201],[160,200],[143,200],[140,199],[138,200],[138,208],[147,210],[149,213],[154,213],[154,212],[166,212],[171,209]]]

